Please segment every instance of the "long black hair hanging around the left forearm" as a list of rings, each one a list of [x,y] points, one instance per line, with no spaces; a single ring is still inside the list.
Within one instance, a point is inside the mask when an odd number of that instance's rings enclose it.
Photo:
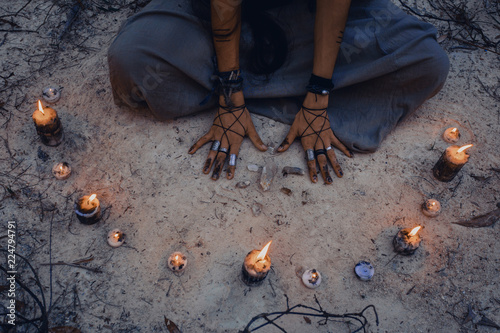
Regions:
[[[268,76],[278,70],[288,54],[288,41],[283,28],[266,10],[286,5],[292,0],[243,0],[241,18],[253,34],[253,46],[244,55],[248,70]],[[193,11],[207,28],[210,27],[210,0],[192,0]]]

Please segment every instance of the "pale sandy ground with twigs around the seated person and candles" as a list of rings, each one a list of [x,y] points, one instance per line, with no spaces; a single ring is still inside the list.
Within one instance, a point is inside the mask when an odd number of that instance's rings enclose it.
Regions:
[[[3,3],[2,15],[24,4]],[[183,332],[237,332],[259,313],[285,310],[287,295],[290,305],[316,306],[317,297],[326,311],[337,314],[373,304],[380,324],[367,311],[368,332],[496,331],[462,322],[471,305],[500,323],[500,225],[466,228],[451,222],[487,213],[500,202],[500,101],[485,90],[498,90],[498,54],[456,48],[462,44],[444,40],[451,61],[446,86],[376,153],[353,159],[339,153],[345,176],[331,186],[278,174],[271,190],[263,192],[259,173],[247,165],[272,159],[279,170],[305,168],[300,145],[272,155],[245,140],[235,179],[211,181],[201,172],[208,147],[194,156],[187,150],[209,128],[212,113],[159,122],[115,106],[107,47],[137,8],[93,6],[79,13],[60,42],[71,6],[33,0],[17,16],[4,17],[17,27],[0,22],[0,242],[6,249],[7,221],[16,221],[16,251],[36,270],[46,308],[52,304],[50,327],[168,332],[166,316]],[[440,26],[441,32],[446,28]],[[23,29],[27,31],[8,32]],[[63,88],[53,106],[65,131],[58,147],[42,145],[31,120],[36,100],[49,84]],[[253,119],[266,143],[277,145],[288,130],[263,117]],[[462,131],[460,144],[475,146],[459,176],[442,183],[431,168],[448,146],[441,134],[449,126]],[[48,157],[42,159],[43,153]],[[51,174],[59,161],[73,168],[65,181]],[[251,185],[235,188],[244,180]],[[90,193],[97,194],[105,209],[102,221],[92,226],[78,222],[73,212],[73,203]],[[428,197],[442,204],[436,218],[421,213]],[[252,214],[256,203],[263,207],[259,216]],[[424,227],[421,248],[411,257],[395,256],[392,237],[400,228],[416,225]],[[127,236],[117,249],[106,242],[113,228]],[[243,258],[271,239],[273,269],[262,286],[249,288],[240,280]],[[166,265],[177,250],[188,259],[181,275]],[[92,260],[81,266],[100,273],[46,265],[88,257]],[[372,281],[355,277],[359,260],[375,266]],[[41,297],[33,274],[18,262],[18,278]],[[301,268],[320,270],[322,285],[305,288],[296,275]],[[4,277],[2,273],[1,285],[6,285]],[[17,288],[24,307],[19,314],[39,316],[32,298]],[[7,300],[6,291],[2,299]],[[319,319],[308,318],[311,323],[289,315],[279,323],[288,332],[350,332],[345,323],[321,326]],[[35,330],[18,330],[25,331]],[[259,331],[279,330],[267,326]]]

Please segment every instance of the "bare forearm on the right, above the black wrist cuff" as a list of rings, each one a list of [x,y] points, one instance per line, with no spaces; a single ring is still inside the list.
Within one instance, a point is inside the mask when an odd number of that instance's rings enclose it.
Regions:
[[[331,78],[351,0],[316,0],[313,74]]]

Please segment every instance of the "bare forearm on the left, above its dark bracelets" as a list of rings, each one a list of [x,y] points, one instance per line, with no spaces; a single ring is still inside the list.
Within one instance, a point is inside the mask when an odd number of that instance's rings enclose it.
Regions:
[[[214,48],[219,72],[239,69],[241,2],[234,0],[211,0],[211,17]]]

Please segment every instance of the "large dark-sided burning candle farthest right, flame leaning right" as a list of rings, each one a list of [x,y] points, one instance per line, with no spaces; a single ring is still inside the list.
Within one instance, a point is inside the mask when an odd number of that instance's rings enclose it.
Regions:
[[[470,147],[472,147],[472,145],[465,145],[462,147],[454,145],[446,148],[432,168],[434,177],[442,182],[452,181],[469,160],[469,155],[466,150]]]

